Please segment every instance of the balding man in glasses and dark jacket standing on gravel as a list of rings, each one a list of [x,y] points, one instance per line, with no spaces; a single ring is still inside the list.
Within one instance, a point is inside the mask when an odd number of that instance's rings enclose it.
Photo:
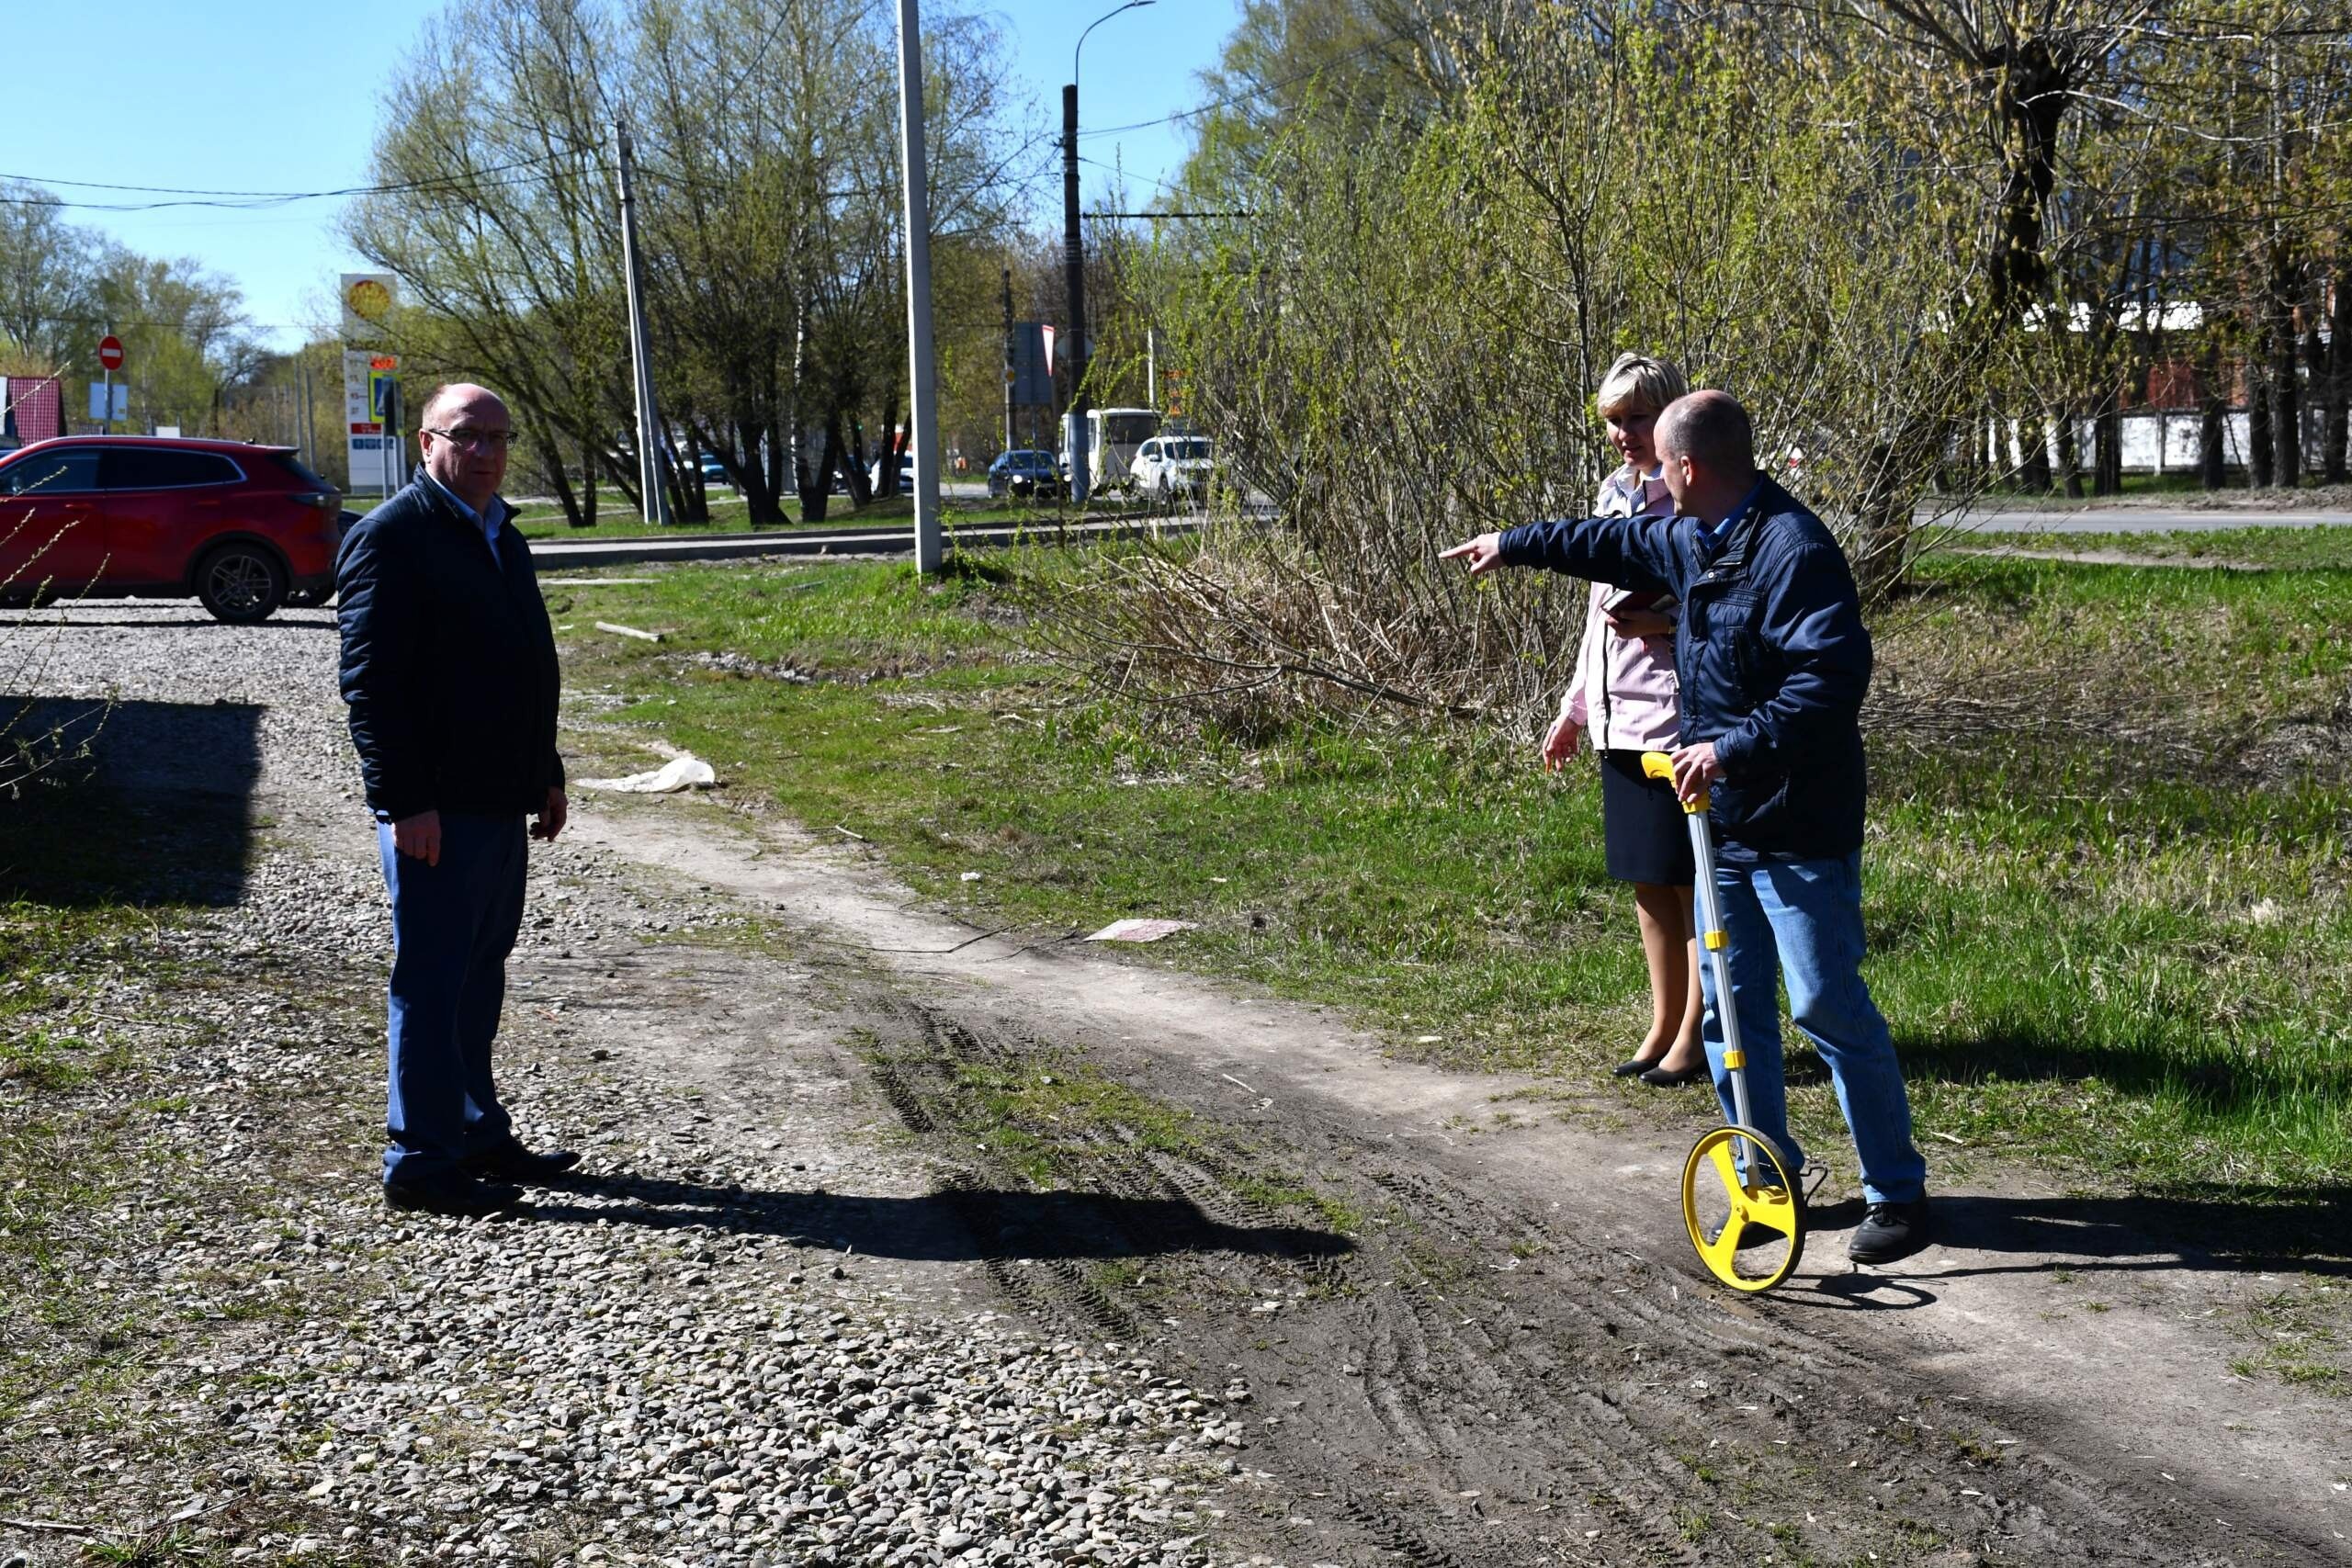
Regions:
[[[579,1161],[524,1150],[489,1079],[524,818],[539,839],[564,827],[555,632],[499,498],[506,404],[445,386],[419,423],[423,465],[334,564],[350,743],[393,893],[383,1201],[489,1213],[522,1197],[508,1182]]]

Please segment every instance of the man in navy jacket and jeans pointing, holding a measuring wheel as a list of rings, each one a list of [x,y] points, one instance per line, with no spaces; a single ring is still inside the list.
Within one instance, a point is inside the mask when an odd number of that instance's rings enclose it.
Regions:
[[[1926,1244],[1926,1161],[1886,1020],[1863,983],[1863,693],[1870,632],[1837,541],[1757,473],[1748,411],[1691,393],[1658,416],[1675,517],[1529,522],[1444,552],[1472,574],[1550,567],[1621,588],[1670,592],[1682,745],[1675,790],[1712,792],[1715,886],[1731,938],[1731,1001],[1748,1048],[1748,1110],[1788,1168],[1778,976],[1790,1016],[1820,1046],[1853,1131],[1867,1213],[1856,1262],[1893,1262]],[[1778,957],[1778,964],[1773,961]],[[1705,1041],[1731,1117],[1722,997],[1705,980]]]

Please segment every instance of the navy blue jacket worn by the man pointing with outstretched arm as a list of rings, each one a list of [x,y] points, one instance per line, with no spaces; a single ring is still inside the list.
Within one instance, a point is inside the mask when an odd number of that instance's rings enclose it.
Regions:
[[[1503,559],[1682,599],[1682,743],[1715,743],[1708,813],[1724,863],[1863,846],[1870,632],[1844,550],[1795,496],[1759,482],[1724,527],[1696,517],[1529,522]]]

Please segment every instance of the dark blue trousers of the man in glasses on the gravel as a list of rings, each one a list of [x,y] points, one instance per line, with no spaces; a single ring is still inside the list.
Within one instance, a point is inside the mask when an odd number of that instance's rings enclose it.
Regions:
[[[489,1084],[489,1044],[522,929],[522,818],[440,818],[440,865],[400,856],[390,823],[376,825],[393,893],[386,1182],[449,1175],[463,1154],[515,1135]]]

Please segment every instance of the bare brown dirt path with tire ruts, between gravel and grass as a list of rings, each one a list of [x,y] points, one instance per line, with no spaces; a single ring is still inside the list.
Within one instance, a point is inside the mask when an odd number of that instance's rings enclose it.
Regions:
[[[1345,1239],[1235,1253],[1155,1234],[1145,1206],[1105,1248],[1150,1258],[1141,1284],[1000,1274],[1030,1312],[1195,1380],[1240,1368],[1282,1389],[1261,1441],[1329,1493],[1287,1526],[1301,1552],[2352,1556],[2352,1410],[2234,1375],[2223,1328],[2272,1272],[2340,1281],[2340,1229],[2331,1255],[2291,1260],[2249,1251],[2227,1213],[1940,1192],[1947,1239],[1922,1258],[1858,1272],[1825,1232],[1783,1291],[1733,1300],[1670,1218],[1682,1150],[1545,1114],[1557,1086],[1399,1065],[1317,1009],[976,933],[910,910],[856,846],[713,806],[581,832],[880,964],[898,994],[882,1086],[950,1190],[990,1175],[934,1143],[969,1121],[957,1081],[1061,1048],[1216,1128],[1155,1154],[1112,1117],[1103,1192],[1263,1227],[1230,1199],[1232,1168],[1256,1168],[1362,1215]],[[2183,1234],[2204,1246],[2157,1239]]]

